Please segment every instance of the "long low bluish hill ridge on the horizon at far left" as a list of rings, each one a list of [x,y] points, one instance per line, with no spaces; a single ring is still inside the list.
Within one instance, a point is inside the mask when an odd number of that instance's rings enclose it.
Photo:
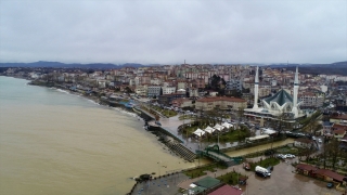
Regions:
[[[142,64],[126,63],[126,64],[103,64],[103,63],[92,63],[92,64],[65,64],[60,62],[44,62],[39,61],[35,63],[0,63],[0,67],[55,67],[55,68],[93,68],[93,69],[114,69],[123,67],[143,67]]]

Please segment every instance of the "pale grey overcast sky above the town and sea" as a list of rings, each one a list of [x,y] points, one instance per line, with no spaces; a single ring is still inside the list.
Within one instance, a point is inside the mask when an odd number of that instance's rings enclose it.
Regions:
[[[333,63],[346,0],[0,0],[0,61]]]

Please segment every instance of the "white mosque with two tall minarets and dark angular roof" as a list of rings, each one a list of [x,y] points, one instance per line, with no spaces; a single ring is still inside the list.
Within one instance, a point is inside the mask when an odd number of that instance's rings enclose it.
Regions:
[[[281,89],[278,93],[270,98],[261,100],[262,106],[258,106],[258,86],[259,86],[259,67],[256,70],[254,86],[254,106],[244,109],[244,115],[257,120],[282,120],[284,122],[296,123],[297,119],[305,117],[305,113],[299,108],[298,101],[298,68],[296,67],[293,96],[285,90]],[[261,122],[260,122],[261,123]]]

